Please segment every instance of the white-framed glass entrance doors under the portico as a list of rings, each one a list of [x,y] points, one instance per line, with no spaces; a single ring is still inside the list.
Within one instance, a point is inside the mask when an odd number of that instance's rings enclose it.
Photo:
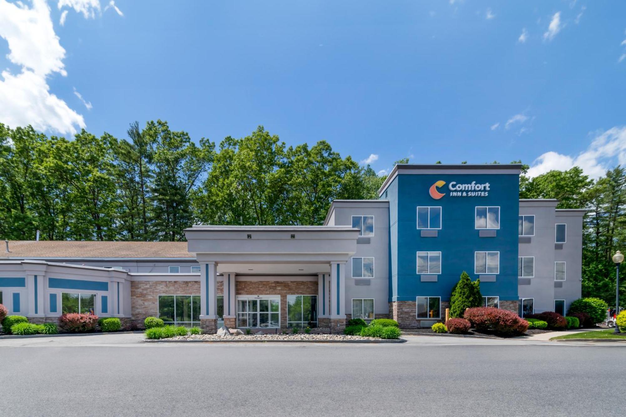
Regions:
[[[280,298],[237,297],[237,327],[280,327]]]

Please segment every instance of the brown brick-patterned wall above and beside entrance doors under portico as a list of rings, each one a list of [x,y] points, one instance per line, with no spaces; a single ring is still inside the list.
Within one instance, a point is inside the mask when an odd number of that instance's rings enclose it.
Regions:
[[[287,295],[317,295],[317,281],[236,281],[237,296],[280,296],[280,327],[287,327]]]

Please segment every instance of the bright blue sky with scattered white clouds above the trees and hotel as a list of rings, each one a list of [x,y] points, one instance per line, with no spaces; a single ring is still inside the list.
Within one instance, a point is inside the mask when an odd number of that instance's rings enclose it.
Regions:
[[[626,163],[625,30],[608,1],[0,0],[0,121],[125,137],[161,118],[216,142],[264,125],[381,172],[597,177]]]

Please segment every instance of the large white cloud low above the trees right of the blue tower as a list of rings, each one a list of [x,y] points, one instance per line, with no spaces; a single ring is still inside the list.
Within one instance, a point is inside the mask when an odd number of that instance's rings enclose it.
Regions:
[[[598,178],[618,164],[626,164],[626,126],[615,126],[596,133],[587,149],[578,155],[553,151],[543,153],[531,164],[528,175],[536,177],[550,170],[580,167],[585,174]]]

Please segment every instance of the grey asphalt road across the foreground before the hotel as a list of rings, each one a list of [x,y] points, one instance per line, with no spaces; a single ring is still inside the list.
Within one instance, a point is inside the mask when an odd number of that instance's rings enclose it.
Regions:
[[[140,339],[0,340],[0,414],[626,414],[624,345],[425,336],[393,345]]]

